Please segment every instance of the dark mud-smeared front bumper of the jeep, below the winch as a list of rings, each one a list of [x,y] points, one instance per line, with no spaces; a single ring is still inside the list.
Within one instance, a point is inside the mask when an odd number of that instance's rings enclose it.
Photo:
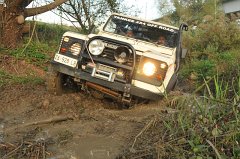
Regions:
[[[91,74],[89,74],[87,72],[81,71],[80,69],[75,69],[75,68],[60,64],[55,61],[51,61],[51,65],[53,66],[54,70],[56,70],[58,72],[70,75],[75,78],[79,78],[80,80],[85,80],[85,81],[88,81],[91,83],[101,85],[101,86],[111,89],[113,91],[124,93],[127,88],[127,89],[129,89],[129,90],[127,90],[129,92],[129,94],[138,96],[141,98],[145,98],[145,99],[150,99],[150,100],[158,100],[163,96],[163,94],[160,94],[160,93],[156,94],[156,93],[150,92],[148,90],[145,90],[145,89],[133,86],[133,85],[124,84],[124,83],[120,83],[117,81],[109,82],[109,81],[105,81],[102,79],[94,78],[91,76]]]

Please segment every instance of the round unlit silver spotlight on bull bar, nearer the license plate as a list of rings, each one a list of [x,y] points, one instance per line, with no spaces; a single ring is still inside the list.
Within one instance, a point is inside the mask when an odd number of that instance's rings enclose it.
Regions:
[[[90,42],[88,49],[92,55],[100,55],[104,49],[104,43],[101,40],[93,40]]]

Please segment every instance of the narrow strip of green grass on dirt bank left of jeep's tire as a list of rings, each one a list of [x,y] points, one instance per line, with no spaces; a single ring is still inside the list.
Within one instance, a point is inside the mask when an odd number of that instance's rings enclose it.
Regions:
[[[17,76],[0,70],[0,87],[13,84],[43,84],[45,81],[35,76]]]

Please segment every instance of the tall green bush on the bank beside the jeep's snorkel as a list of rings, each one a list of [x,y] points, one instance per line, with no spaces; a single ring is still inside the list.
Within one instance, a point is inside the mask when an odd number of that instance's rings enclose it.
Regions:
[[[240,27],[235,22],[227,22],[224,15],[206,18],[196,30],[184,34],[184,44],[189,49],[186,64],[181,70],[182,78],[193,73],[199,82],[203,77],[228,77],[240,66]]]

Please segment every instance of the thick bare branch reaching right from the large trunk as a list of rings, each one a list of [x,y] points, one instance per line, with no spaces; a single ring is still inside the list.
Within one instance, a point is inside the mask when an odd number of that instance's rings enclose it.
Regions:
[[[45,6],[41,6],[41,7],[36,7],[36,8],[25,8],[24,9],[24,16],[25,17],[30,17],[30,16],[34,16],[37,14],[41,14],[44,12],[47,12],[49,10],[52,10],[54,8],[56,8],[57,6],[63,4],[64,2],[67,2],[68,0],[55,0],[54,2],[47,4]]]

